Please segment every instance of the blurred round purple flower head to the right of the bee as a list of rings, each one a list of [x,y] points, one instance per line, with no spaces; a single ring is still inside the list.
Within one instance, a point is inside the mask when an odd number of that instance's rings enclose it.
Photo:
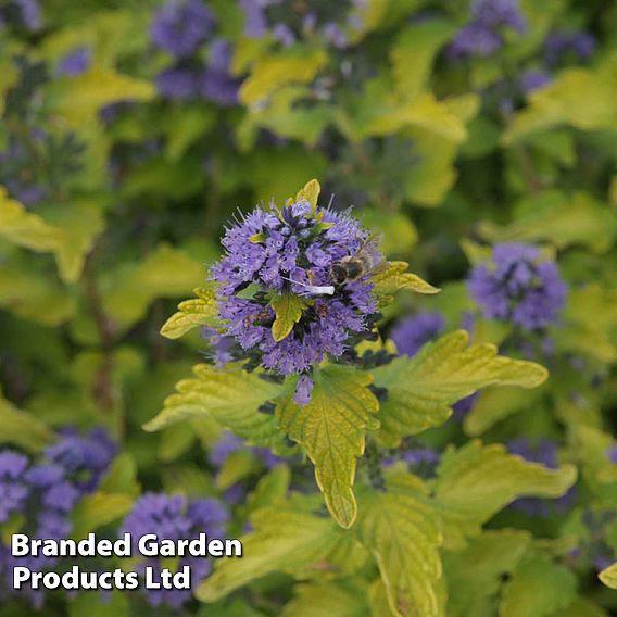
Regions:
[[[554,262],[525,244],[498,244],[490,262],[474,267],[469,292],[484,317],[509,320],[528,330],[556,322],[567,288]]]

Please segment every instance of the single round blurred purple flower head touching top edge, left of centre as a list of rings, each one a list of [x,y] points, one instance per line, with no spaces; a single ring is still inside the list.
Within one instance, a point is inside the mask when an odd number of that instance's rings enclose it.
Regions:
[[[215,25],[202,0],[169,0],[154,17],[150,36],[156,47],[176,58],[192,54]]]

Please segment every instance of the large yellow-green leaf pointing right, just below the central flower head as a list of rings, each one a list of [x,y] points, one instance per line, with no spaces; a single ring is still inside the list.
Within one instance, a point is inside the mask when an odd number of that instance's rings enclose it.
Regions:
[[[396,445],[406,435],[439,426],[451,414],[450,405],[487,386],[534,388],[547,376],[533,362],[498,355],[492,344],[468,345],[464,330],[427,344],[413,358],[400,357],[377,367],[375,385],[388,388],[382,403],[379,438]]]

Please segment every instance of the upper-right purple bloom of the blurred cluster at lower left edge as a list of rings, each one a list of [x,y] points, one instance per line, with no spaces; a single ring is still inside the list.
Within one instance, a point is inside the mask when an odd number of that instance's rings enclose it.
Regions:
[[[84,492],[93,491],[117,454],[117,444],[103,428],[95,428],[87,436],[67,428],[61,438],[46,451],[46,456],[75,478]]]

